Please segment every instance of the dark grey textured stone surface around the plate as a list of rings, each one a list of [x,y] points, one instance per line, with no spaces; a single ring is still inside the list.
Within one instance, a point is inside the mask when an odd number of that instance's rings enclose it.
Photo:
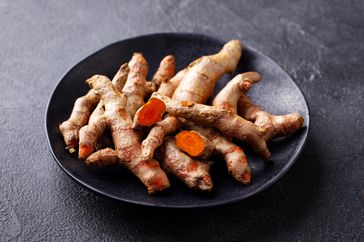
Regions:
[[[363,241],[363,3],[0,1],[0,241]],[[297,81],[311,109],[308,143],[269,190],[166,211],[99,197],[56,165],[44,118],[63,73],[155,32],[239,38]]]

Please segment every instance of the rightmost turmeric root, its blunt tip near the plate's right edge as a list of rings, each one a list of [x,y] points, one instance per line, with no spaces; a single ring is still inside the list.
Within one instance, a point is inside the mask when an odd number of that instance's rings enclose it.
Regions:
[[[254,122],[266,141],[297,132],[304,123],[304,118],[297,112],[273,115],[252,103],[245,95],[240,97],[238,107],[239,114]]]

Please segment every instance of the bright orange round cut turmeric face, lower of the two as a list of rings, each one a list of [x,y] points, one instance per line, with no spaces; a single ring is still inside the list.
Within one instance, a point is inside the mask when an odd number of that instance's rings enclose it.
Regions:
[[[195,131],[183,130],[176,136],[176,145],[192,157],[201,156],[205,151],[205,140]]]

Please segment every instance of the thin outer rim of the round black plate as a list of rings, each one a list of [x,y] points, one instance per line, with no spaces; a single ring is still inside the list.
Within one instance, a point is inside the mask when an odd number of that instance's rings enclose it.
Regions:
[[[128,199],[128,198],[120,198],[118,196],[112,195],[112,194],[107,194],[105,192],[103,192],[100,189],[97,189],[89,184],[87,184],[86,182],[82,181],[81,179],[77,178],[75,175],[73,175],[70,171],[68,171],[62,164],[61,162],[58,160],[56,154],[53,151],[52,148],[52,144],[50,141],[50,136],[49,136],[49,130],[48,130],[48,113],[49,113],[49,108],[50,108],[50,104],[52,102],[53,99],[53,94],[54,92],[57,90],[58,86],[62,83],[62,80],[70,73],[72,72],[79,64],[81,64],[82,62],[84,62],[85,60],[91,58],[92,56],[98,54],[99,52],[104,51],[107,48],[110,48],[114,45],[118,45],[121,42],[127,42],[127,41],[132,41],[134,39],[139,39],[139,38],[146,38],[146,37],[158,37],[158,36],[175,36],[175,37],[179,37],[179,36],[192,36],[192,37],[202,37],[205,39],[210,39],[212,41],[216,41],[219,43],[224,43],[224,40],[219,39],[215,36],[211,36],[211,35],[205,35],[205,34],[200,34],[200,33],[190,33],[190,32],[174,32],[174,33],[169,33],[169,32],[158,32],[158,33],[150,33],[150,34],[143,34],[143,35],[137,35],[131,38],[127,38],[127,39],[121,39],[118,40],[116,42],[110,43],[105,45],[104,47],[102,47],[101,49],[98,49],[94,52],[92,52],[90,55],[87,55],[84,58],[81,58],[81,60],[79,60],[76,64],[74,64],[70,69],[68,69],[67,71],[65,71],[65,73],[61,76],[61,78],[59,79],[59,81],[57,81],[57,83],[54,85],[54,87],[52,88],[52,92],[50,94],[50,97],[48,98],[48,102],[46,105],[46,112],[45,112],[45,118],[44,118],[44,127],[45,127],[45,131],[46,131],[46,136],[47,136],[47,143],[48,143],[48,148],[51,151],[51,154],[53,156],[53,159],[56,161],[56,163],[58,164],[58,166],[74,181],[76,181],[77,183],[79,183],[80,185],[84,186],[87,190],[96,193],[98,195],[101,195],[102,197],[108,198],[108,199],[112,199],[112,200],[116,200],[119,202],[124,202],[124,203],[129,203],[129,204],[133,204],[133,205],[140,205],[140,206],[145,206],[145,207],[158,207],[158,208],[182,208],[182,209],[187,209],[187,208],[207,208],[207,207],[216,207],[216,206],[225,206],[225,205],[230,205],[233,203],[238,203],[241,202],[243,200],[247,200],[249,198],[252,198],[253,196],[256,196],[257,194],[263,192],[264,190],[268,189],[269,187],[271,187],[273,184],[275,184],[284,174],[286,174],[286,172],[290,169],[290,167],[297,161],[297,159],[300,157],[303,149],[306,146],[307,143],[307,137],[309,135],[309,131],[310,131],[310,108],[307,102],[307,99],[304,95],[304,93],[302,92],[301,88],[299,87],[299,85],[297,84],[297,82],[295,81],[295,79],[289,75],[289,73],[282,67],[280,66],[276,61],[274,61],[270,56],[265,55],[264,53],[260,52],[259,50],[255,49],[254,47],[250,46],[250,45],[244,45],[246,48],[249,48],[261,55],[263,55],[265,58],[267,58],[269,61],[274,62],[277,66],[279,66],[282,71],[292,80],[294,86],[298,89],[298,91],[301,93],[302,97],[303,97],[303,101],[304,104],[306,105],[307,108],[307,118],[305,117],[305,123],[306,123],[306,130],[304,131],[303,137],[302,137],[302,145],[301,147],[299,147],[298,150],[296,150],[294,152],[294,157],[288,162],[286,163],[282,169],[279,171],[279,173],[276,176],[273,176],[271,179],[269,179],[267,182],[265,182],[262,186],[258,187],[257,189],[253,190],[250,193],[247,193],[246,195],[242,195],[240,197],[236,197],[236,198],[231,198],[228,200],[224,200],[224,201],[216,201],[216,202],[210,202],[210,203],[201,203],[201,204],[195,204],[195,205],[168,205],[168,204],[159,204],[159,203],[151,203],[151,202],[144,202],[144,201],[135,201],[132,199]],[[240,40],[240,38],[239,38]],[[148,195],[148,194],[146,194]]]

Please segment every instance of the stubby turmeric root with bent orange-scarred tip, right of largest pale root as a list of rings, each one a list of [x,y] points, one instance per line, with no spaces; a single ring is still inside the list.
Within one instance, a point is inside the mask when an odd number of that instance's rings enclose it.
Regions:
[[[245,72],[236,75],[216,95],[212,101],[212,106],[221,107],[233,113],[237,113],[237,104],[241,95],[246,93],[253,83],[260,80],[261,76],[257,72]]]

